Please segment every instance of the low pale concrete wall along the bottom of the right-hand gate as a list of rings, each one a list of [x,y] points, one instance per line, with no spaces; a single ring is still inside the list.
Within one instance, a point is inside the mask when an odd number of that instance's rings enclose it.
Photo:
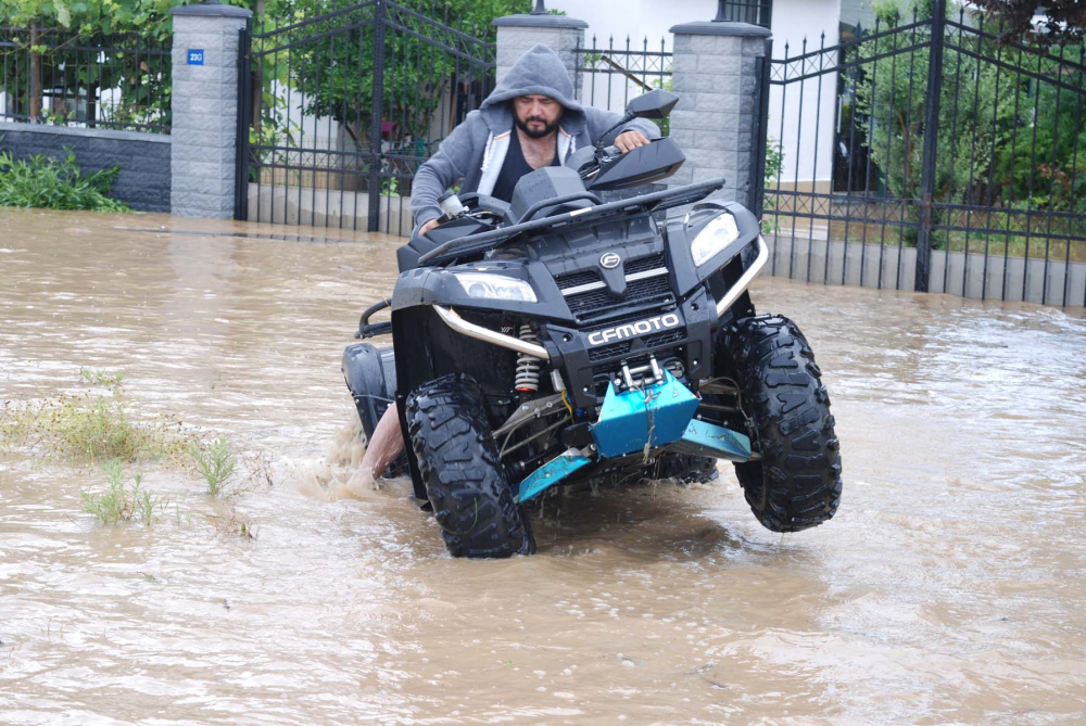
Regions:
[[[899,250],[893,245],[881,247],[854,242],[848,244],[846,251],[844,242],[830,242],[826,267],[825,240],[811,240],[797,231],[795,240],[791,233],[779,237],[767,234],[766,242],[770,246],[770,262],[765,275],[817,283],[828,281],[829,284],[842,284],[844,281],[844,284],[884,290],[913,289],[917,270],[917,251],[913,247]],[[983,253],[971,252],[967,256],[963,252],[932,252],[930,290],[935,293],[1000,300],[1006,284],[1008,302],[1061,305],[1064,281],[1068,305],[1082,306],[1086,295],[1086,263],[1071,263],[1069,267],[1062,259],[1050,259],[1046,275],[1044,259],[1031,258],[1026,265],[1022,257],[1010,257],[1005,266],[1002,255],[990,254],[985,265]]]

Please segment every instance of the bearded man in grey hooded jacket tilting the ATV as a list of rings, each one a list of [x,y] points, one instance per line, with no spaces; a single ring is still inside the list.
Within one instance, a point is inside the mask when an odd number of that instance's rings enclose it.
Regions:
[[[458,180],[460,194],[478,192],[509,202],[521,177],[544,166],[561,166],[574,151],[595,145],[604,135],[604,144],[622,153],[660,136],[655,124],[642,118],[615,129],[619,119],[620,114],[578,103],[561,60],[536,44],[418,169],[412,184],[413,245],[421,253],[437,246],[422,235],[438,226],[443,215],[439,198]],[[368,442],[363,471],[380,476],[403,447],[391,407]]]

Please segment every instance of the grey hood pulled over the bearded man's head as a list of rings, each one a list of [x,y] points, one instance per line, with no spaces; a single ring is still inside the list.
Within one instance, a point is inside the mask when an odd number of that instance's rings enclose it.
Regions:
[[[584,126],[584,109],[573,98],[573,84],[566,65],[553,50],[543,43],[535,43],[509,68],[479,106],[491,130],[507,130],[513,125],[513,109],[508,101],[529,93],[546,95],[560,103],[565,111],[559,124],[568,131],[580,130]]]

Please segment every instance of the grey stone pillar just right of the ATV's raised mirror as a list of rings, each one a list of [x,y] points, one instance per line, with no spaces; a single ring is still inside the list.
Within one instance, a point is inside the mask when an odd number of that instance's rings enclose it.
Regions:
[[[723,190],[710,199],[753,209],[757,190],[750,178],[758,167],[761,133],[759,66],[770,33],[722,16],[671,28],[671,88],[681,99],[671,112],[671,138],[686,154],[686,163],[668,183],[725,177]]]

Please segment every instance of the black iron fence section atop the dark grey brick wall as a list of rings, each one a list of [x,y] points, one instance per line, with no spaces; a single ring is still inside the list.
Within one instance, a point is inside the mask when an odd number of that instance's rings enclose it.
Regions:
[[[0,27],[0,118],[169,132],[171,43]]]

